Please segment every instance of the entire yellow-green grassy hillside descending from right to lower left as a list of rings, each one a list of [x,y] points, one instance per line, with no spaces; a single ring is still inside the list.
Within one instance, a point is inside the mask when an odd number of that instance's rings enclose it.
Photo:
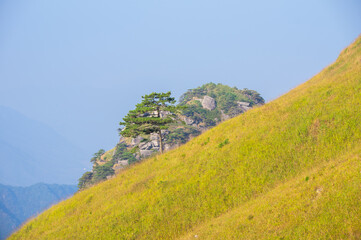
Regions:
[[[288,94],[76,194],[11,239],[357,237],[360,92],[358,38]]]

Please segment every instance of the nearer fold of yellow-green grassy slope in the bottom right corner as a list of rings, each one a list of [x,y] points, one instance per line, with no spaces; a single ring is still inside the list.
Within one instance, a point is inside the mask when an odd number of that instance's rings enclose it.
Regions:
[[[321,164],[182,239],[361,239],[360,156]]]

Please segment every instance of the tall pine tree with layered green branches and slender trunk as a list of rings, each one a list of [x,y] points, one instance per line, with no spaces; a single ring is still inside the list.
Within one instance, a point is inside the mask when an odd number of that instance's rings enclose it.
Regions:
[[[168,129],[169,123],[175,121],[176,107],[175,99],[171,97],[171,92],[151,93],[142,96],[141,103],[136,105],[135,110],[129,111],[128,115],[120,122],[123,129],[120,135],[123,137],[137,137],[140,134],[157,133],[160,142],[160,152],[163,153],[162,130]]]

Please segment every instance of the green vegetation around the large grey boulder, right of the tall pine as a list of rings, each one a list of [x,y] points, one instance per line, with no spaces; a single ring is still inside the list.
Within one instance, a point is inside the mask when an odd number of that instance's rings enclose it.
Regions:
[[[213,110],[203,108],[200,100],[204,96],[212,97],[216,107]],[[184,144],[189,139],[198,136],[205,129],[212,128],[224,120],[224,114],[235,117],[242,113],[237,102],[246,102],[250,107],[264,104],[264,99],[254,90],[238,90],[222,84],[207,83],[195,89],[188,90],[180,97],[178,106],[183,106],[181,114],[193,121],[190,125],[176,123],[171,126],[170,133],[165,137],[168,144]]]

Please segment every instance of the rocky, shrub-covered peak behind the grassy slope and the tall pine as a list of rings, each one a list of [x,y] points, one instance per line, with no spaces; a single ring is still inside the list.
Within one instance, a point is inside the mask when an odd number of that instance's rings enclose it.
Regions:
[[[263,104],[264,99],[254,90],[239,90],[214,83],[189,89],[180,97],[177,107],[182,110],[177,114],[178,120],[171,123],[167,130],[162,130],[164,149],[168,151],[179,147],[220,122]],[[161,112],[163,117],[168,114]],[[92,171],[83,174],[78,187],[83,189],[109,178],[128,165],[158,153],[159,149],[157,133],[135,138],[121,136],[115,148],[95,154],[91,160],[94,163]]]

